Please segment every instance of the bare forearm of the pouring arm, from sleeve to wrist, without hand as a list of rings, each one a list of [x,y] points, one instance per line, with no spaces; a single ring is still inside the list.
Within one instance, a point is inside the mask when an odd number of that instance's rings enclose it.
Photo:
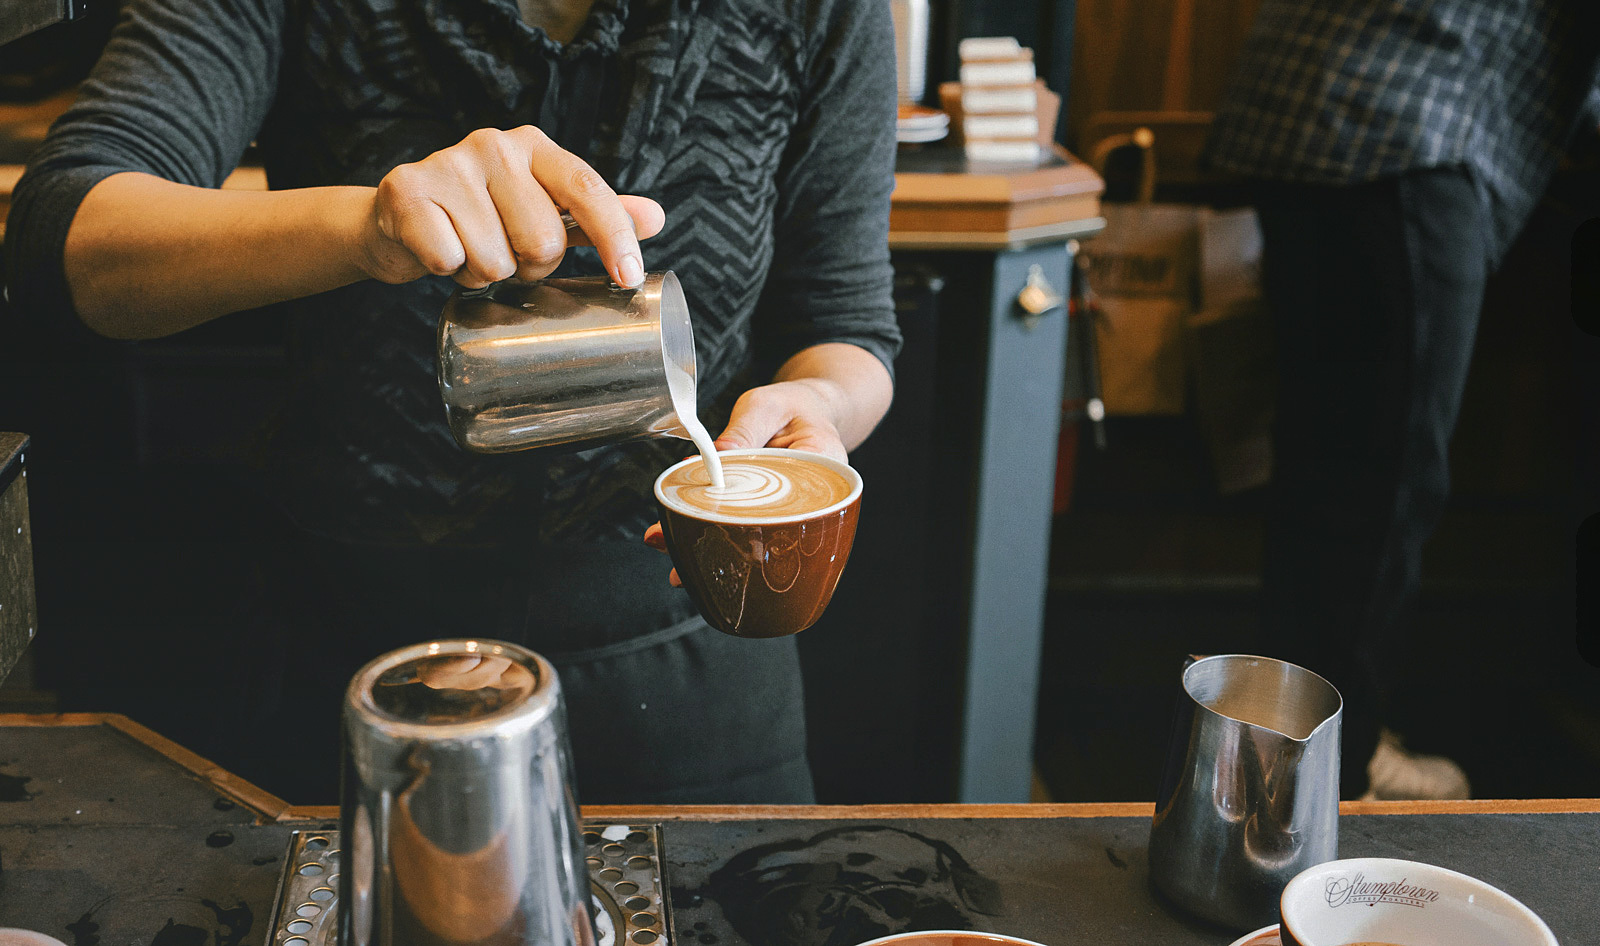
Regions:
[[[363,279],[371,203],[371,187],[210,190],[114,174],[67,232],[67,287],[101,335],[171,335]]]

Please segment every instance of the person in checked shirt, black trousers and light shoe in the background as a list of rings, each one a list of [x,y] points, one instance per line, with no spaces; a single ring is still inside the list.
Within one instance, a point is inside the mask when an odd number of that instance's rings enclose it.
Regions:
[[[1278,357],[1266,632],[1346,696],[1346,797],[1467,794],[1381,724],[1483,285],[1594,134],[1597,61],[1592,0],[1262,0],[1218,110]]]

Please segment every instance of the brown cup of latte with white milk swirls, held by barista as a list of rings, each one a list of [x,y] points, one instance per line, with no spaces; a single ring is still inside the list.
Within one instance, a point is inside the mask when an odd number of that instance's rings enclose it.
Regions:
[[[661,530],[706,621],[736,637],[782,637],[822,616],[850,560],[861,474],[762,447],[720,455],[714,487],[699,456],[656,479]]]

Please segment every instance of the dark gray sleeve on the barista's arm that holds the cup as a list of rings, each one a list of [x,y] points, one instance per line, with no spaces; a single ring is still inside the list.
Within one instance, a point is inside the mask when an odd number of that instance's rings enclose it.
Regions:
[[[901,347],[888,247],[894,27],[888,3],[842,0],[821,19],[778,171],[757,355],[776,367],[803,347],[842,341],[877,355],[893,376]]]

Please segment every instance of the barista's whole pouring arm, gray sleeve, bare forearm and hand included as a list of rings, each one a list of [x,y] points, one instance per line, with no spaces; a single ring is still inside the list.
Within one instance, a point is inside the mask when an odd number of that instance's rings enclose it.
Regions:
[[[661,208],[531,126],[474,131],[376,187],[219,190],[272,106],[283,22],[285,0],[126,5],[13,195],[18,311],[150,338],[366,277],[538,277],[566,247],[557,206],[613,279],[642,279]]]

